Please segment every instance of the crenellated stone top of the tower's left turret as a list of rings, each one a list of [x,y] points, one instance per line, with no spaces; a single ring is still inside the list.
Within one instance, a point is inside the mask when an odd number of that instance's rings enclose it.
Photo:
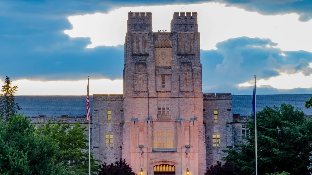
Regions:
[[[129,12],[127,21],[127,32],[152,32],[151,12]]]

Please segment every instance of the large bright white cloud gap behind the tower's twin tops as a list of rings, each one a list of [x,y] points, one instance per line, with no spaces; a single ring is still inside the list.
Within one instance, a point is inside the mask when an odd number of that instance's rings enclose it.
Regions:
[[[123,7],[107,14],[96,13],[71,16],[68,20],[72,30],[64,31],[70,37],[90,37],[96,46],[116,46],[124,44],[128,12],[152,12],[153,31],[170,31],[173,12],[197,12],[201,49],[216,49],[215,45],[229,38],[248,36],[250,38],[270,38],[282,50],[305,50],[312,52],[312,20],[298,21],[299,15],[263,16],[256,12],[246,12],[236,7],[225,7],[220,3],[191,5],[166,5],[148,7]],[[300,31],[300,32],[299,32]]]

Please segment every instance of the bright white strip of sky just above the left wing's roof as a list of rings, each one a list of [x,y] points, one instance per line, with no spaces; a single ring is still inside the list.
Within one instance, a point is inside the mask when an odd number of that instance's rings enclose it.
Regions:
[[[3,80],[0,80],[3,85]],[[87,80],[79,81],[12,81],[18,86],[15,95],[87,95]],[[123,80],[91,79],[89,94],[122,94]]]

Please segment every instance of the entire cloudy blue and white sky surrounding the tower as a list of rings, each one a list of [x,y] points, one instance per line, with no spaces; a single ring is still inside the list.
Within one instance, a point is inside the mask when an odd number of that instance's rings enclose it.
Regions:
[[[0,85],[16,95],[123,93],[127,14],[152,12],[170,31],[173,12],[197,12],[202,91],[312,94],[312,1],[1,0]]]

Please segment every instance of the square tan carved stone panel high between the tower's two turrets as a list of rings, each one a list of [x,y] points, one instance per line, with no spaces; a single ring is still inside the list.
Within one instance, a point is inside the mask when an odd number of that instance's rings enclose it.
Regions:
[[[155,66],[171,67],[172,64],[172,49],[168,48],[155,48]]]

